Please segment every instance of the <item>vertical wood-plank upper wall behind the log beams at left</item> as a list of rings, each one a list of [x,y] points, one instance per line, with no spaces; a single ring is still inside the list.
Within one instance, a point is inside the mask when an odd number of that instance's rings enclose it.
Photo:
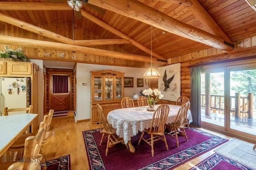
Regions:
[[[87,30],[82,29],[81,27],[76,27],[76,26],[74,27],[75,34],[73,35],[72,23],[58,23],[58,24],[52,23],[52,24],[36,25],[36,26],[47,29],[54,33],[58,33],[70,39],[75,39],[75,40],[102,39],[98,35],[95,35],[92,32],[89,32]],[[24,29],[21,29],[9,24],[0,26],[0,35],[9,35],[13,37],[57,42],[50,38],[44,37],[42,35],[38,35],[36,33],[32,33],[30,31],[26,31]],[[10,46],[9,48],[17,49],[17,46]],[[125,51],[124,49],[121,49],[117,45],[98,45],[98,46],[91,46],[91,48],[117,51],[120,53],[127,53],[127,51]],[[78,63],[129,66],[129,67],[140,67],[140,68],[150,67],[150,63],[125,60],[125,59],[122,59],[122,57],[112,58],[112,57],[91,55],[88,53],[83,53],[83,54],[72,53],[72,51],[58,51],[53,49],[50,50],[50,49],[38,49],[38,48],[29,48],[29,47],[23,47],[23,50],[24,50],[24,54],[31,59],[46,59],[46,60],[61,60],[61,61],[63,60],[63,61],[78,62]],[[0,44],[0,51],[5,51],[4,44]],[[45,57],[44,53],[50,53],[50,56]],[[59,57],[58,53],[64,53],[65,55],[64,57]],[[73,55],[76,55],[75,60],[72,59]],[[160,66],[160,64],[153,64],[153,66],[157,67],[157,66]]]

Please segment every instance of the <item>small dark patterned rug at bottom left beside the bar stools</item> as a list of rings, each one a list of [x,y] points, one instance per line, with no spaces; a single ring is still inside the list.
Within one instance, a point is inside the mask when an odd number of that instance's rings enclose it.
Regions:
[[[47,170],[71,170],[70,155],[46,161]]]

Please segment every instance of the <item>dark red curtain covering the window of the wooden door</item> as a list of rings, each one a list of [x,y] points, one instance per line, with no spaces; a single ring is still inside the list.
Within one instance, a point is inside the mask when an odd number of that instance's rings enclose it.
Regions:
[[[68,76],[52,76],[52,93],[68,93]]]

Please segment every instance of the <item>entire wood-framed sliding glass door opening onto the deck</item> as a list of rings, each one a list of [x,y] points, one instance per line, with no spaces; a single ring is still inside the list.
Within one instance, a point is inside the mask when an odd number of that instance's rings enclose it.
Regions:
[[[256,140],[254,62],[201,68],[202,127]]]

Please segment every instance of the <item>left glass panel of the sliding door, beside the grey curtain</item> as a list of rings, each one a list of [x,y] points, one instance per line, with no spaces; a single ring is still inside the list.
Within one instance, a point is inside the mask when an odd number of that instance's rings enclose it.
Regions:
[[[201,123],[224,130],[224,70],[201,70]]]

